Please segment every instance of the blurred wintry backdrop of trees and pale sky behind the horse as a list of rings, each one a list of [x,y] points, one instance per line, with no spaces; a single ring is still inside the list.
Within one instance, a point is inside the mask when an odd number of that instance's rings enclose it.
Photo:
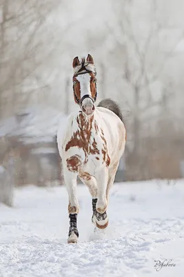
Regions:
[[[184,177],[183,10],[183,0],[0,0],[1,198],[3,186],[63,184],[57,127],[75,105],[72,59],[88,53],[97,102],[116,100],[127,129],[116,181]]]

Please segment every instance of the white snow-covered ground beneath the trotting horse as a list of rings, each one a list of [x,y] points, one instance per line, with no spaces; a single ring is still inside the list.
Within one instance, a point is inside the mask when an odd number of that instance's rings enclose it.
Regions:
[[[14,208],[0,204],[1,277],[184,276],[184,181],[115,184],[104,233],[93,231],[88,189],[78,195],[78,244],[66,243],[65,187],[17,189]]]

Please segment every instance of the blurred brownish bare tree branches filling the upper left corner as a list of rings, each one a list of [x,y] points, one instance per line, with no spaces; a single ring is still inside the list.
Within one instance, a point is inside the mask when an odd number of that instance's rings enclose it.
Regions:
[[[59,0],[1,1],[1,117],[19,109],[15,103],[28,102],[32,91],[46,86],[38,69],[53,51],[51,46],[44,47],[52,39],[46,23],[59,4]]]

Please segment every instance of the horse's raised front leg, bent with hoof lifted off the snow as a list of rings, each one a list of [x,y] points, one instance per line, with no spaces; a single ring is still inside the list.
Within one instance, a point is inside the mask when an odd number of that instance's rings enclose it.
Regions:
[[[106,190],[108,184],[108,169],[103,168],[96,177],[97,199],[92,199],[93,217],[92,220],[96,227],[105,229],[108,226],[108,215],[106,213],[108,202]]]

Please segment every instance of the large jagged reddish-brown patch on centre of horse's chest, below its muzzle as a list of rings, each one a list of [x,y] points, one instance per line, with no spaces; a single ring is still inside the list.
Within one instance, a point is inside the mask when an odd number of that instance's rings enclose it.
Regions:
[[[88,120],[82,113],[80,113],[79,116],[77,116],[76,118],[79,129],[74,132],[72,138],[65,146],[65,151],[68,151],[74,146],[83,149],[83,152],[85,153],[85,163],[87,163],[88,161],[89,154],[100,154],[95,139],[93,139],[92,143],[90,141],[93,120],[94,116],[91,116]]]

